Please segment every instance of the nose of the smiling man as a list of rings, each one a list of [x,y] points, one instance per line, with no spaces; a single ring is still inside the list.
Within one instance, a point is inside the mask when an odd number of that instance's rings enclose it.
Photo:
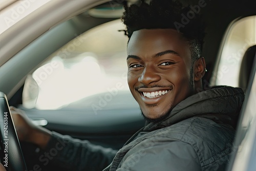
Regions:
[[[154,66],[147,66],[147,67],[144,67],[144,70],[141,73],[138,80],[144,85],[148,85],[148,84],[157,82],[160,79],[161,79],[161,76],[157,73]]]

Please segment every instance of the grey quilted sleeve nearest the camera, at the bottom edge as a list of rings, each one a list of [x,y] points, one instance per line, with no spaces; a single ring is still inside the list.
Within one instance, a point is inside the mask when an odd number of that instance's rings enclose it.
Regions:
[[[138,149],[138,148],[137,148]],[[199,171],[201,165],[193,146],[181,141],[162,142],[139,148],[127,157],[117,171]]]

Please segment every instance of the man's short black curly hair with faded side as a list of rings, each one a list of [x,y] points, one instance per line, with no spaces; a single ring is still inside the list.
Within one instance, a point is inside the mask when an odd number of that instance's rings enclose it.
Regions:
[[[198,13],[184,7],[179,1],[151,0],[150,4],[140,1],[130,7],[124,6],[121,20],[126,25],[126,35],[132,36],[134,31],[141,29],[175,29],[188,40],[191,52],[191,66],[202,56],[204,24]],[[192,14],[184,24],[185,15]],[[193,67],[192,67],[193,68]]]

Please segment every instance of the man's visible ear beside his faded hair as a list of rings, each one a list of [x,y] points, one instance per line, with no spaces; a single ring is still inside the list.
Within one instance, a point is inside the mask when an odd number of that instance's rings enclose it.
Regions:
[[[197,59],[194,63],[194,80],[199,81],[202,79],[206,72],[205,60],[203,57]]]

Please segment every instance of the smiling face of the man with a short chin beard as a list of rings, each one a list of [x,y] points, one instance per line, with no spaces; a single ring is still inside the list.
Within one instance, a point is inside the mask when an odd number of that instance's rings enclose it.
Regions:
[[[129,88],[145,118],[163,118],[193,94],[189,44],[177,31],[135,31],[127,55]]]

